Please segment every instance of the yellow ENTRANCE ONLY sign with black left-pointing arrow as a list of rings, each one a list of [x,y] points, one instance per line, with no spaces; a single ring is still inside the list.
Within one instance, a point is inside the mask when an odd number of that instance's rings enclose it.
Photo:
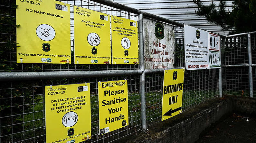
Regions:
[[[184,71],[184,68],[165,70],[162,121],[181,113]]]

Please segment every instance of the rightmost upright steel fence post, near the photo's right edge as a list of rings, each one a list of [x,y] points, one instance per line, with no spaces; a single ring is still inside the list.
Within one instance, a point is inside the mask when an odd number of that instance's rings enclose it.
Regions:
[[[249,63],[249,86],[250,86],[250,97],[253,98],[253,81],[252,81],[252,57],[251,57],[251,34],[247,35],[248,40],[248,63]]]

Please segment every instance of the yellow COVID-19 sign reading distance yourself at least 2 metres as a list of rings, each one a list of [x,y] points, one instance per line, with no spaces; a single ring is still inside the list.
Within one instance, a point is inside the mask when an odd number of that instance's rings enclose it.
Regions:
[[[90,84],[45,86],[46,142],[91,138]]]

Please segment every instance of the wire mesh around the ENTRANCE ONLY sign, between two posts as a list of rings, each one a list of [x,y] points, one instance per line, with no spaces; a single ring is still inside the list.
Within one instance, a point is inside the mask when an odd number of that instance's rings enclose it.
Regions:
[[[174,67],[185,67],[184,28],[175,29],[175,63]],[[164,73],[145,75],[147,125],[161,121],[162,90]],[[186,70],[182,110],[199,105],[219,95],[218,69]]]

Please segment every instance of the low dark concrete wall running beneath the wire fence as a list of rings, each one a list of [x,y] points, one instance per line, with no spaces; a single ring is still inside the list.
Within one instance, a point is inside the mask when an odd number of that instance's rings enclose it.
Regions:
[[[224,115],[256,115],[256,99],[225,96],[193,107],[163,122],[148,127],[149,134],[138,131],[117,142],[127,143],[194,143],[200,134]]]

